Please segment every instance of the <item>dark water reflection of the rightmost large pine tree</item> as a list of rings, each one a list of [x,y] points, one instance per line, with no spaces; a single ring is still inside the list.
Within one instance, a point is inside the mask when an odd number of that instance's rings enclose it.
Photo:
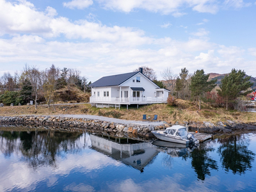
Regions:
[[[252,162],[255,154],[248,150],[249,138],[245,134],[230,136],[227,139],[218,140],[222,145],[218,148],[221,165],[228,172],[244,174],[246,170],[252,170]]]

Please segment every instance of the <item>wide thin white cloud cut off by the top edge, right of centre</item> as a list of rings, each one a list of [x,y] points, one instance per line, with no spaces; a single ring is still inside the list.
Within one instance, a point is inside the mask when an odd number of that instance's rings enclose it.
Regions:
[[[179,13],[182,6],[188,6],[197,12],[216,13],[218,6],[214,0],[97,0],[101,6],[109,10],[118,10],[120,12],[132,12],[135,9],[143,9],[149,12],[159,12],[167,15],[173,13],[175,17],[180,17],[184,13]]]

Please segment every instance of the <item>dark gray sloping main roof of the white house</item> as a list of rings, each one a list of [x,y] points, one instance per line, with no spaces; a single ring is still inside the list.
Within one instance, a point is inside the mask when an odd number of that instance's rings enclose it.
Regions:
[[[132,76],[138,74],[137,72],[131,72],[127,74],[119,74],[115,76],[106,76],[101,77],[99,80],[90,84],[92,87],[100,87],[100,86],[118,86],[119,84],[124,83],[127,79],[130,79]]]

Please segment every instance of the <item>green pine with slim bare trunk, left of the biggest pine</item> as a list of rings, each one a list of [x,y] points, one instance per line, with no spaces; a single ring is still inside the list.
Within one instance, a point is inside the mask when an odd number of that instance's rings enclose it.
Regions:
[[[207,81],[209,75],[204,74],[204,70],[196,70],[191,77],[191,84],[189,89],[191,90],[191,95],[199,100],[199,110],[201,109],[201,100],[205,96],[206,92],[211,92],[211,90],[216,86],[216,81]]]

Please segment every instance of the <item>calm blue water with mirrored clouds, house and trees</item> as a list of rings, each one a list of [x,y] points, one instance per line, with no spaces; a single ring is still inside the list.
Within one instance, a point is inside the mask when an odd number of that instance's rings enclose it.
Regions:
[[[0,191],[256,190],[256,134],[195,149],[168,144],[0,131]]]

